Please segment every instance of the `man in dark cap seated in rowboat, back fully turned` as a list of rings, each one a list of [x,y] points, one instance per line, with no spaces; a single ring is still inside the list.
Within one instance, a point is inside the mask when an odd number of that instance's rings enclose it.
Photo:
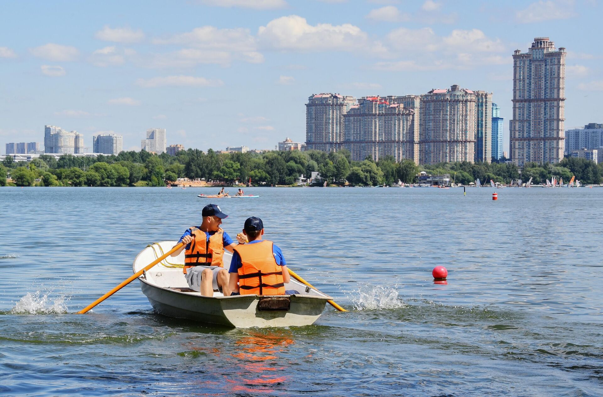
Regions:
[[[280,248],[262,240],[262,219],[252,216],[245,220],[243,234],[249,243],[239,244],[230,261],[230,290],[232,295],[291,295],[285,291],[291,278]],[[239,240],[241,242],[242,240]]]

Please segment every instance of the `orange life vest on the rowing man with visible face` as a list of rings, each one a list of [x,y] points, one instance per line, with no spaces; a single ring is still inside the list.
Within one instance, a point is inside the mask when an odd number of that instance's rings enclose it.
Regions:
[[[192,240],[191,246],[185,252],[183,273],[186,274],[186,269],[193,266],[224,267],[224,230],[218,228],[218,231],[213,236],[209,236],[209,240],[207,240],[207,235],[203,230],[196,227],[189,228],[189,230],[191,231],[191,236],[195,237],[195,239]]]

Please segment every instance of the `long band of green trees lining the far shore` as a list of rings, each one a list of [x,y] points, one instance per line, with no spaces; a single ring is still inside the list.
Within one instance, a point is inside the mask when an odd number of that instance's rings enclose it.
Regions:
[[[349,151],[216,153],[198,149],[180,151],[175,156],[150,154],[145,151],[121,152],[119,155],[75,157],[62,155],[58,160],[41,155],[30,163],[15,162],[7,156],[0,164],[0,186],[10,175],[17,186],[165,186],[177,178],[205,178],[207,181],[248,181],[255,185],[294,185],[297,178],[309,178],[320,172],[329,184],[349,183],[353,186],[391,185],[402,181],[414,183],[417,173],[432,175],[449,173],[456,183],[469,184],[479,178],[510,183],[521,178],[543,183],[552,177],[569,181],[575,176],[582,183],[601,183],[601,164],[584,158],[564,158],[559,164],[529,163],[522,170],[507,163],[440,163],[417,166],[412,160],[396,162],[386,156],[379,161],[369,158],[352,161]],[[521,173],[520,173],[521,172]]]

